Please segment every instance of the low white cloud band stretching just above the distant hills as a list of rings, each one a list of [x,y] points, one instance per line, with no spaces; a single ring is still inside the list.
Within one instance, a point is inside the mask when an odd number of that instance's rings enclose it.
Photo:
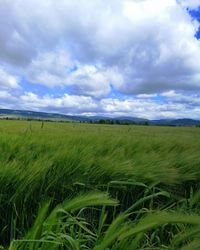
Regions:
[[[128,97],[94,99],[89,96],[64,94],[39,96],[32,92],[23,95],[11,95],[0,91],[0,107],[22,110],[35,110],[63,113],[68,115],[104,115],[110,117],[132,116],[147,119],[193,118],[200,116],[200,96],[190,96],[178,92],[164,92],[154,97]]]

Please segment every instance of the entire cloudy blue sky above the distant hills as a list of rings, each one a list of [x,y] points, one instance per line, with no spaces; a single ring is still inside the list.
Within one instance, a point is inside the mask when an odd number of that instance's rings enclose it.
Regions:
[[[0,108],[200,119],[200,0],[0,0]]]

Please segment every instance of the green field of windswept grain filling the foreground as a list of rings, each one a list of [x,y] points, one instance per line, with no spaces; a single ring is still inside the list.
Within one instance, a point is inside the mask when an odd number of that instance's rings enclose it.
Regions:
[[[200,128],[0,121],[0,249],[200,249]]]

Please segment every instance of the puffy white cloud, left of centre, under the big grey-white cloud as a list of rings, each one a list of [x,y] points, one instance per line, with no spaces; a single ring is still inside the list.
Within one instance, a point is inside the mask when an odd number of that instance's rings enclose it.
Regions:
[[[98,98],[109,94],[111,84],[123,84],[123,77],[114,67],[82,65],[63,50],[43,53],[34,59],[28,67],[27,79],[50,88],[72,86],[76,94]]]

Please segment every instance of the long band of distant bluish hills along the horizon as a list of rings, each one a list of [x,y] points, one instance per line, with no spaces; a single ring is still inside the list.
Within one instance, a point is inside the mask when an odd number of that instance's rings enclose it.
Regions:
[[[50,121],[66,121],[66,122],[105,122],[105,123],[120,123],[120,124],[144,124],[157,126],[200,126],[199,120],[193,119],[160,119],[148,120],[145,118],[120,116],[72,116],[57,113],[36,112],[29,110],[11,110],[0,109],[0,119],[35,119],[35,120],[50,120]]]

